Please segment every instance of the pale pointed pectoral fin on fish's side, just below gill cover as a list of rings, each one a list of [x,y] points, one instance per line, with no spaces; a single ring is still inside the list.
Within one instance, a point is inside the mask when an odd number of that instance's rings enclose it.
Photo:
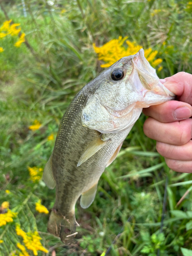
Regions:
[[[109,140],[103,141],[101,139],[102,134],[99,135],[95,140],[93,140],[86,150],[82,153],[77,166],[80,166],[82,163],[87,161],[90,157],[92,157],[97,151],[99,151]]]

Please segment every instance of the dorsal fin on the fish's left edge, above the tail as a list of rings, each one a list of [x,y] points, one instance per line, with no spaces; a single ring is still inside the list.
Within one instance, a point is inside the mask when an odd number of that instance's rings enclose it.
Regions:
[[[42,179],[44,180],[46,185],[51,189],[53,189],[56,185],[56,181],[53,177],[52,157],[53,157],[53,153],[51,154],[48,162],[46,163],[44,174],[42,175]]]

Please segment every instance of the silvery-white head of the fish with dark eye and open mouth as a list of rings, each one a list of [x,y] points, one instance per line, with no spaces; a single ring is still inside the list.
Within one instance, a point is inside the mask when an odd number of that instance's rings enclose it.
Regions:
[[[101,133],[117,133],[132,126],[151,105],[174,99],[144,57],[143,49],[123,57],[87,84],[88,96],[82,125]]]

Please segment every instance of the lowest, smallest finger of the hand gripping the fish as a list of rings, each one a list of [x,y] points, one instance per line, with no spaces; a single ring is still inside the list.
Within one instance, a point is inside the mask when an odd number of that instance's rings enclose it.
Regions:
[[[170,169],[179,173],[192,173],[192,161],[178,161],[165,158],[165,162]]]

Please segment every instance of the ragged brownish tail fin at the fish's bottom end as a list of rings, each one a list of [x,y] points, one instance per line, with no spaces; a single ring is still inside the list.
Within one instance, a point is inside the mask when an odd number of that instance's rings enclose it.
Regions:
[[[70,214],[63,216],[53,208],[48,223],[48,232],[54,234],[56,237],[60,237],[63,243],[73,243],[77,234],[76,226],[79,224],[75,220],[75,215]]]

